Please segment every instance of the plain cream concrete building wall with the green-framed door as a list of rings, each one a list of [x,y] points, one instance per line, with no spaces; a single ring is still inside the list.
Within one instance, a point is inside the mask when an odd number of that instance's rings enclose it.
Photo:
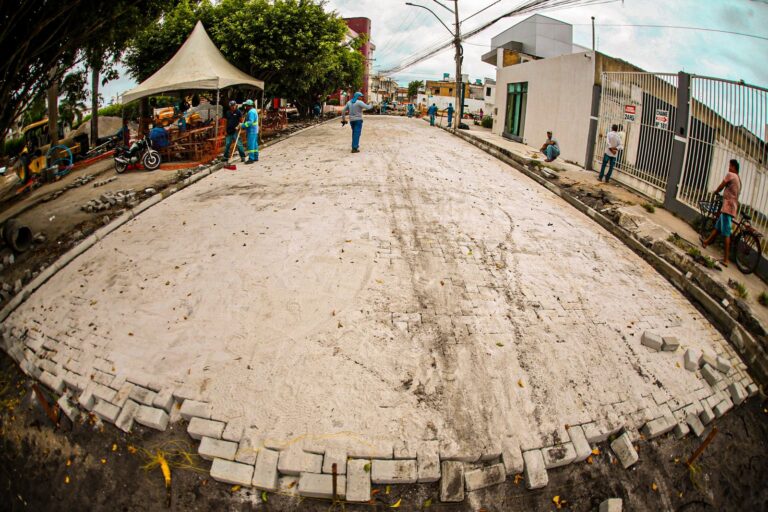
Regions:
[[[525,62],[496,71],[493,133],[501,135],[507,110],[507,84],[528,82],[523,140],[540,147],[552,130],[561,158],[584,165],[595,66],[589,52]]]

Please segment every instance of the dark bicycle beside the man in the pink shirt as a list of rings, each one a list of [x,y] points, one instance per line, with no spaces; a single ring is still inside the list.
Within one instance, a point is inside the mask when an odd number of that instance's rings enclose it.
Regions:
[[[716,194],[712,201],[699,201],[701,221],[699,234],[706,238],[715,228],[715,222],[723,206],[722,196]],[[732,252],[735,253],[736,266],[742,274],[751,274],[757,269],[762,257],[761,238],[763,234],[752,227],[752,216],[741,212],[739,220],[733,220],[734,229],[731,233]]]

